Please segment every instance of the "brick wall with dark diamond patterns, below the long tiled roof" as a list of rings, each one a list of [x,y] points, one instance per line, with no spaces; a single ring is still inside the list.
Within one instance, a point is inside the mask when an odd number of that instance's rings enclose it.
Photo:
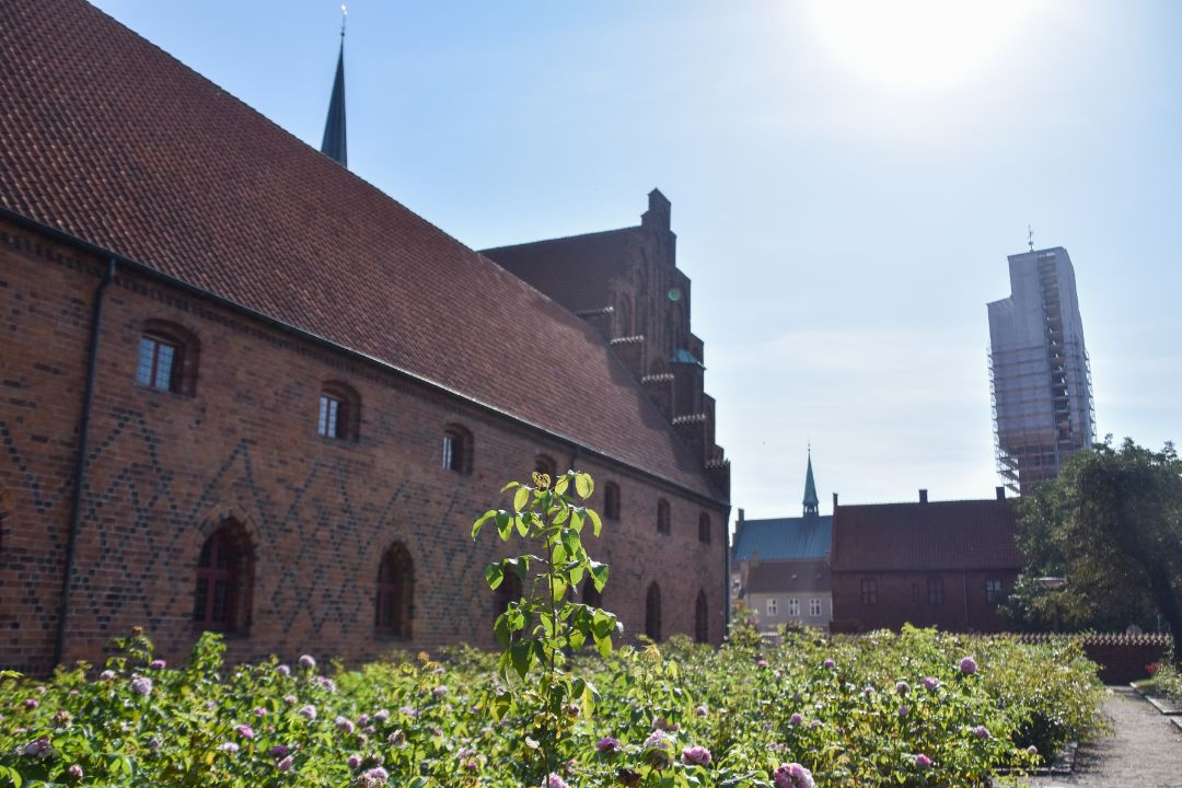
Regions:
[[[69,525],[89,320],[103,261],[0,226],[0,666],[48,667]],[[355,360],[210,301],[131,273],[108,289],[83,490],[66,658],[98,659],[106,640],[143,625],[165,658],[196,638],[190,616],[197,553],[227,519],[254,554],[251,625],[228,639],[234,659],[300,651],[371,658],[390,647],[491,645],[487,561],[472,520],[500,504],[496,490],[525,478],[546,454],[565,469],[565,442]],[[145,321],[181,326],[200,343],[194,392],[135,384]],[[381,331],[381,326],[375,326]],[[320,386],[361,397],[356,441],[316,431]],[[474,437],[473,473],[441,468],[443,428]],[[726,510],[641,471],[587,455],[576,460],[621,489],[622,520],[589,549],[611,565],[604,606],[629,633],[644,629],[656,580],[664,634],[694,632],[707,594],[710,639],[722,636]],[[673,534],[656,533],[658,497]],[[602,507],[597,494],[593,506]],[[701,512],[712,545],[699,542]],[[413,638],[374,637],[377,567],[395,540],[415,566]]]

